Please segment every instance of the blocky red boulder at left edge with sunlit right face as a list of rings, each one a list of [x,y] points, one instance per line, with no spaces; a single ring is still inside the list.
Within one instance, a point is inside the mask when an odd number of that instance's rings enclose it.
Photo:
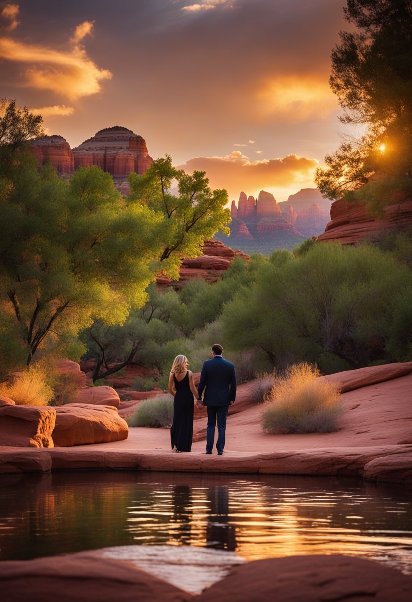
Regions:
[[[47,406],[0,407],[0,442],[19,447],[53,447],[56,411]]]

